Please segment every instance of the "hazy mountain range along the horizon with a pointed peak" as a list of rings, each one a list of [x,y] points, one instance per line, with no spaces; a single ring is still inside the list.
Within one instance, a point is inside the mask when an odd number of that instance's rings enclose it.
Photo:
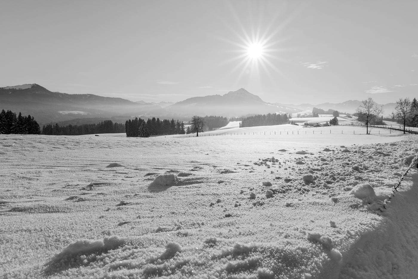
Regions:
[[[103,97],[94,94],[67,94],[52,92],[38,84],[24,84],[0,88],[0,109],[22,112],[34,116],[39,124],[66,121],[76,118],[111,118],[130,119],[132,117],[175,118],[188,121],[193,115],[217,115],[240,117],[247,114],[295,114],[301,111],[335,109],[341,112],[354,113],[361,102],[344,103],[281,104],[268,103],[259,96],[240,88],[224,95],[192,97],[176,103],[129,101],[122,98]],[[393,111],[396,104],[384,106]]]

